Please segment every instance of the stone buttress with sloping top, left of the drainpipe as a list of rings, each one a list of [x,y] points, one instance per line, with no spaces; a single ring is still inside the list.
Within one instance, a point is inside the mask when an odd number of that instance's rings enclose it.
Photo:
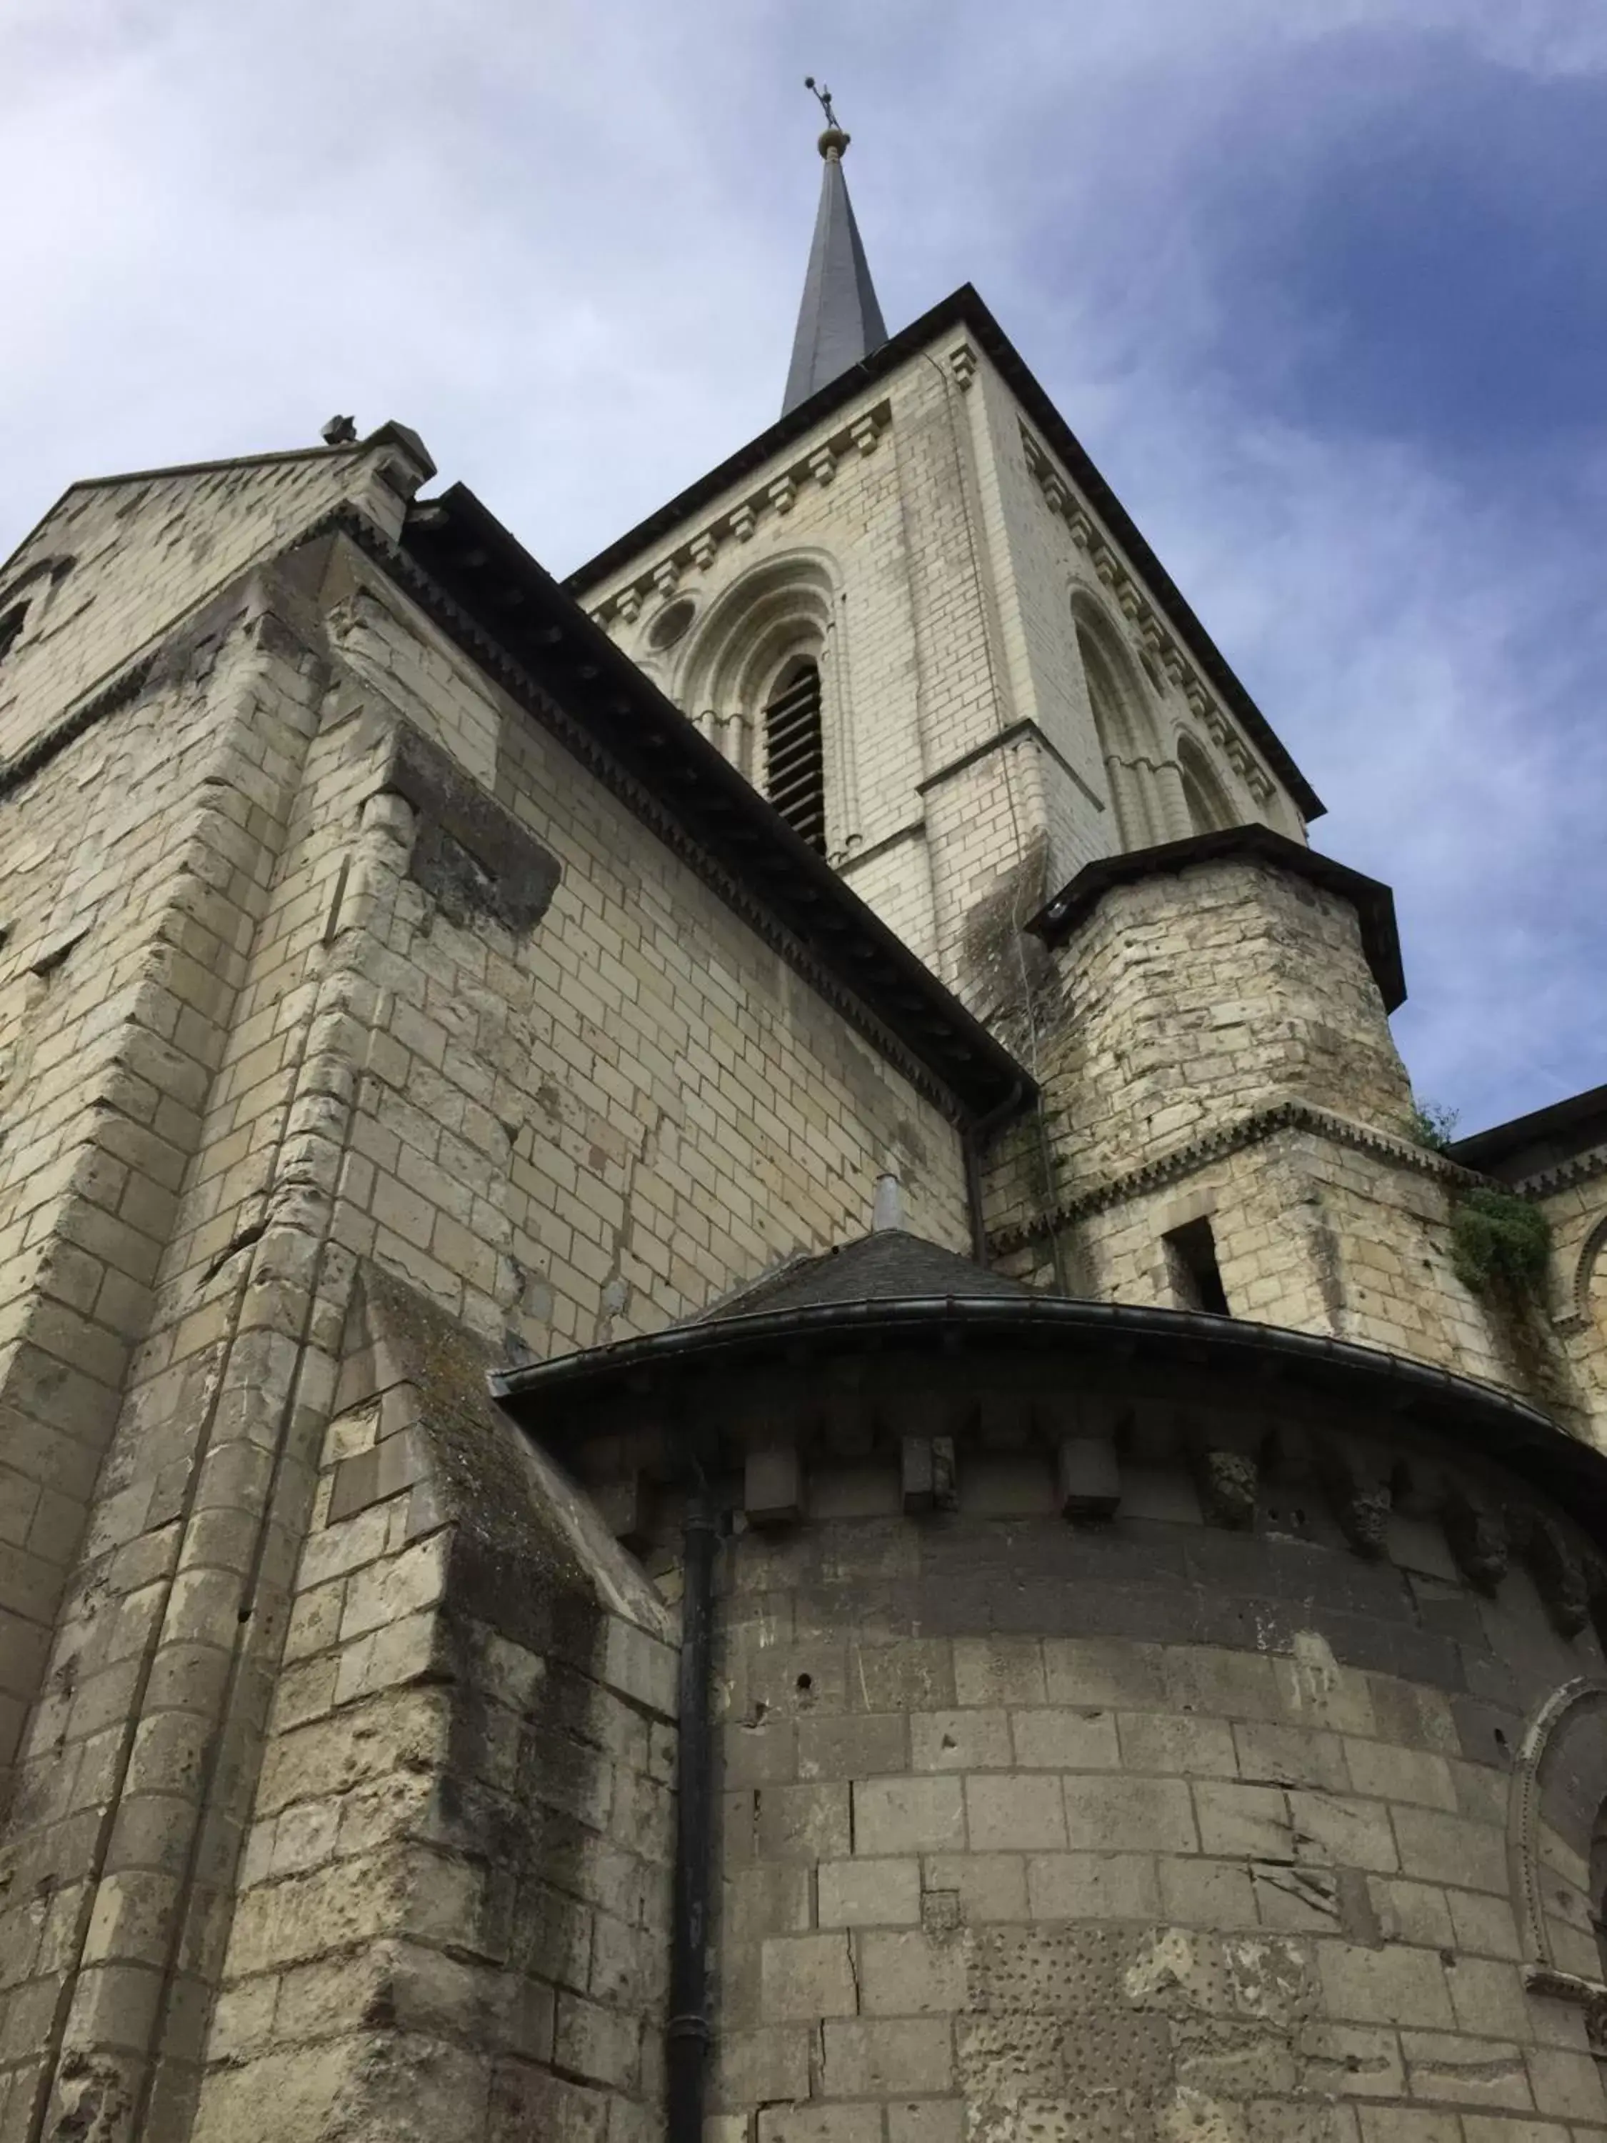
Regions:
[[[197,2143],[658,2132],[675,1627],[484,1365],[354,1301]]]

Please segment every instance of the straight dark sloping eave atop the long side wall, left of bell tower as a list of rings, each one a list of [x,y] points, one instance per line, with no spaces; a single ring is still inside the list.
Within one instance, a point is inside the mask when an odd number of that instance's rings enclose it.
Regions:
[[[671,705],[574,598],[463,484],[409,512],[401,549],[354,512],[330,516],[504,686],[540,688],[566,744],[662,838],[677,836],[771,943],[808,958],[816,988],[904,1069],[953,1099],[953,1114],[1003,1121],[1037,1087],[988,1029],[915,958],[838,872]],[[465,630],[465,628],[474,630]],[[774,934],[780,924],[782,936]],[[797,960],[795,960],[797,964]]]

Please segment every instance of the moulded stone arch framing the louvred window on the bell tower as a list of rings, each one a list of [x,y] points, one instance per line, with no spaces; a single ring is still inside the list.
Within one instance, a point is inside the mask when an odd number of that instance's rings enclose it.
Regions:
[[[759,718],[801,660],[821,671],[827,844],[857,829],[842,579],[825,551],[786,551],[752,566],[709,604],[681,654],[673,696],[754,786],[763,786]]]

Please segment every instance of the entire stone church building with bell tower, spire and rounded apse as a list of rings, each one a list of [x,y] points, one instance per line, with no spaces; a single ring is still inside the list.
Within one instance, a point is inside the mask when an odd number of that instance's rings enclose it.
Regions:
[[[1607,1087],[827,107],[780,418],[0,566],[0,2143],[1607,2143]]]

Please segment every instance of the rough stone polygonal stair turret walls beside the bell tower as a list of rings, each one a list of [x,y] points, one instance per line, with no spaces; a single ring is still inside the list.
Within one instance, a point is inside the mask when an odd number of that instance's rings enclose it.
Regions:
[[[1457,1273],[1455,1200],[1474,1179],[1412,1136],[1341,896],[1204,864],[1112,887],[1050,962],[1037,1063],[1052,1187],[1026,1121],[992,1172],[1007,1271],[1200,1307],[1168,1237],[1206,1222],[1234,1316],[1481,1376],[1583,1432],[1547,1305],[1491,1301]]]

